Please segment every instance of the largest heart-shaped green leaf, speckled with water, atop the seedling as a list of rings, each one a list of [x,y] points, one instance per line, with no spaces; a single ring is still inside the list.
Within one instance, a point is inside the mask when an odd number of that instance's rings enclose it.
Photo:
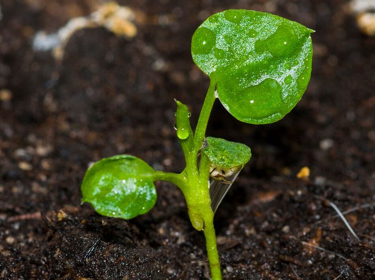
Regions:
[[[313,30],[269,13],[227,10],[210,16],[192,40],[193,60],[237,119],[269,124],[301,99],[311,75]]]

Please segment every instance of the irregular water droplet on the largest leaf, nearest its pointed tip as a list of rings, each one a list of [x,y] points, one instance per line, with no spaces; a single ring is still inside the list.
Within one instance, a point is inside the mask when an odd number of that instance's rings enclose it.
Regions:
[[[255,42],[255,51],[268,51],[275,58],[290,56],[298,46],[298,38],[291,27],[280,25],[271,36]]]

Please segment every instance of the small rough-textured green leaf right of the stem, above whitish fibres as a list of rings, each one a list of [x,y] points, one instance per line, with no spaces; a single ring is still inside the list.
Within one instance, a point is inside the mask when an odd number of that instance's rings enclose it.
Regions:
[[[221,138],[207,137],[206,147],[202,154],[206,155],[215,166],[234,168],[244,166],[251,157],[251,150],[242,143],[231,142]]]

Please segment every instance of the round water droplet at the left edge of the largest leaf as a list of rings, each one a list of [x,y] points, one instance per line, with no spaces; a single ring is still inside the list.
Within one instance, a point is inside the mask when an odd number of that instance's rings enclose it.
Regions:
[[[192,41],[193,54],[209,54],[216,44],[216,35],[206,27],[199,27]]]

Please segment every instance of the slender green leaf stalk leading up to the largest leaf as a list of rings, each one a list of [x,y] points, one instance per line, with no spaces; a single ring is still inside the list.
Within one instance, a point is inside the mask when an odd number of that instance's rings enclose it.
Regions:
[[[210,87],[208,88],[208,91],[207,91],[206,98],[204,99],[201,114],[199,115],[197,127],[194,133],[194,151],[196,153],[198,153],[198,150],[202,146],[202,143],[206,134],[208,119],[210,118],[212,106],[216,99],[215,87],[216,87],[216,82],[211,81]]]

